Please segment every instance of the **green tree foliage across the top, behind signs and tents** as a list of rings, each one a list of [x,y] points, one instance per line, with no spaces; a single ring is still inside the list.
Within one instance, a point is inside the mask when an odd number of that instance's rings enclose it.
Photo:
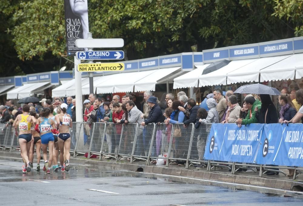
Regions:
[[[301,36],[302,1],[90,0],[89,29],[94,38],[123,38],[127,60],[190,52],[193,45],[202,51]],[[63,1],[4,0],[0,9],[14,68],[58,69],[66,55]]]

